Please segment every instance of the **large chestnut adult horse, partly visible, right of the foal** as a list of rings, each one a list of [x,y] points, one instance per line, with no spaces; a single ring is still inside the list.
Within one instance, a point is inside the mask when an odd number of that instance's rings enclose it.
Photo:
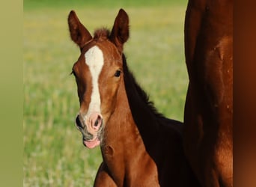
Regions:
[[[189,0],[184,148],[201,186],[233,186],[233,1]]]

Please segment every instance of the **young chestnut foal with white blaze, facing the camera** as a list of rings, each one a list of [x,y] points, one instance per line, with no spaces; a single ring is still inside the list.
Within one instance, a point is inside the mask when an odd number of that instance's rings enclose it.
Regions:
[[[94,186],[198,186],[183,153],[182,123],[157,113],[127,68],[127,13],[121,9],[112,31],[94,37],[74,11],[68,24],[81,50],[73,65],[76,126],[85,146],[100,144],[103,156]]]

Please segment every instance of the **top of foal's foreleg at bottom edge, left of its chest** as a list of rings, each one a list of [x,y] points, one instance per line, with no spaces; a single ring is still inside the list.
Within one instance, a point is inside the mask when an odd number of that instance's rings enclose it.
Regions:
[[[95,187],[116,187],[114,180],[109,175],[109,170],[104,162],[101,163],[94,181]]]

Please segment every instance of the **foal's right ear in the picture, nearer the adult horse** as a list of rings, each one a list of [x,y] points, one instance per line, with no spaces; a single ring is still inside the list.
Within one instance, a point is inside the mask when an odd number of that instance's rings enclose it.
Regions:
[[[127,13],[120,9],[118,16],[110,34],[110,40],[118,47],[119,52],[123,52],[124,43],[129,38],[129,17]]]

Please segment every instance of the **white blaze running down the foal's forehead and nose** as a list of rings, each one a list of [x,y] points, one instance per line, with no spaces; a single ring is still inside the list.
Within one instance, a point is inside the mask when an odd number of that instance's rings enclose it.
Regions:
[[[88,65],[92,77],[91,102],[89,104],[87,114],[87,116],[90,116],[91,112],[100,112],[100,91],[98,79],[103,68],[104,58],[103,52],[98,46],[93,46],[85,52],[85,63]]]

